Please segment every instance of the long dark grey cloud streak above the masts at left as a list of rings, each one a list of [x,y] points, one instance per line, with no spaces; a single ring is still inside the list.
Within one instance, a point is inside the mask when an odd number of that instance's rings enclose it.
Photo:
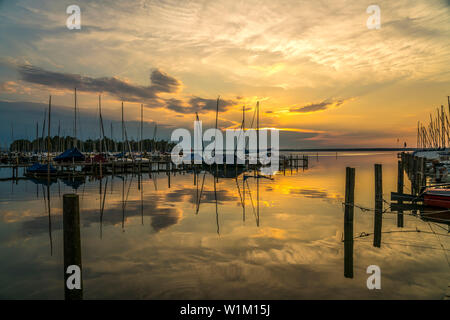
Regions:
[[[77,88],[86,92],[107,92],[125,101],[151,101],[158,98],[158,93],[176,92],[181,83],[158,69],[150,74],[150,86],[134,85],[115,77],[92,78],[73,73],[44,70],[32,65],[18,67],[22,80],[53,88]]]

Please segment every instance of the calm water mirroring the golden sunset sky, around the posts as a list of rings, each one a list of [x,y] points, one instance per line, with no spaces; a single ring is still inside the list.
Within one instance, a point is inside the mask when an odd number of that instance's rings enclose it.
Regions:
[[[450,282],[447,226],[409,212],[403,229],[384,214],[381,248],[373,236],[356,239],[354,277],[344,277],[345,167],[356,168],[355,202],[373,208],[374,163],[383,164],[389,201],[395,153],[323,153],[308,170],[246,179],[245,212],[242,175],[220,179],[217,214],[211,175],[197,214],[192,174],[172,176],[170,188],[167,175],[145,174],[140,190],[136,176],[104,178],[101,187],[56,182],[50,220],[46,186],[0,182],[0,298],[64,298],[62,195],[76,192],[86,299],[441,299]],[[373,221],[355,209],[355,235],[373,233]],[[389,233],[416,229],[441,235]],[[366,287],[369,265],[381,268],[381,290]]]

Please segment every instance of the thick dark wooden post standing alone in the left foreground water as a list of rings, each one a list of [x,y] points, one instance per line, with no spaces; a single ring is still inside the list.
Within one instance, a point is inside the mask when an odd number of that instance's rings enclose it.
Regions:
[[[66,300],[83,299],[83,277],[81,266],[81,239],[80,239],[80,205],[76,194],[63,196],[63,234],[64,234],[64,297]],[[78,269],[78,270],[77,270]],[[79,286],[69,288],[78,281]]]

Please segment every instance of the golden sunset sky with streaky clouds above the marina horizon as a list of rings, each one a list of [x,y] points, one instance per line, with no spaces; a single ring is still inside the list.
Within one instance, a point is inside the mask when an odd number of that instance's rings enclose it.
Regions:
[[[379,29],[366,10],[380,8]],[[69,30],[69,5],[81,29]],[[450,1],[0,0],[0,144],[52,133],[169,138],[213,127],[281,130],[283,148],[415,146],[417,121],[450,95]],[[450,108],[450,106],[449,106]],[[39,129],[40,131],[41,129]],[[81,131],[81,132],[80,132]]]

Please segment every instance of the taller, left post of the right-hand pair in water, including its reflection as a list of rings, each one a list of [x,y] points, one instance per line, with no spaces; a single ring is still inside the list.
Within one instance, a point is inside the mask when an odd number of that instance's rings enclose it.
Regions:
[[[353,278],[353,211],[355,168],[345,169],[344,277]]]

